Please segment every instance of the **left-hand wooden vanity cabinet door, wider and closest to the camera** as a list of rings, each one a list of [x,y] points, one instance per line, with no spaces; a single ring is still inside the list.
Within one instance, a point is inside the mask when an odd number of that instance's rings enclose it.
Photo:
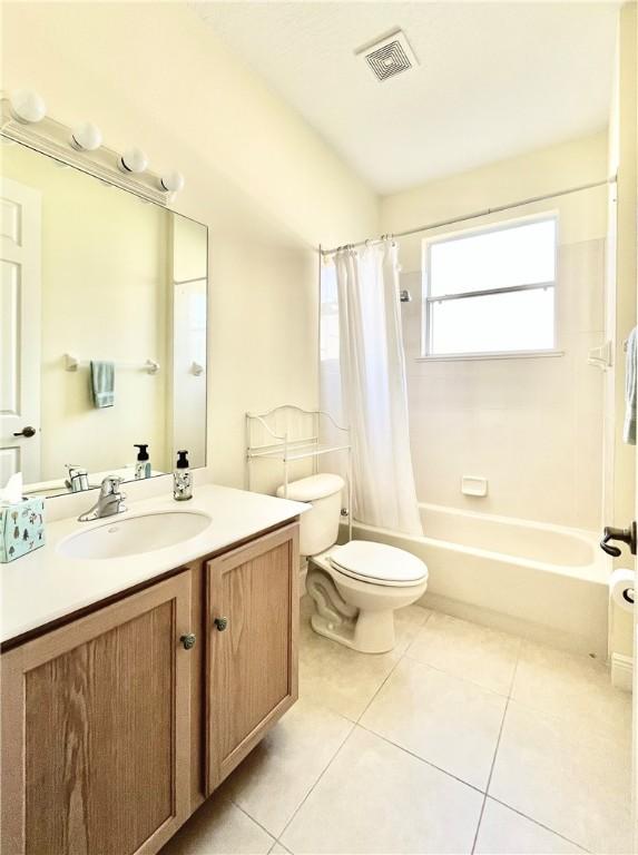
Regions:
[[[188,816],[190,576],[2,656],[2,852],[155,853]]]

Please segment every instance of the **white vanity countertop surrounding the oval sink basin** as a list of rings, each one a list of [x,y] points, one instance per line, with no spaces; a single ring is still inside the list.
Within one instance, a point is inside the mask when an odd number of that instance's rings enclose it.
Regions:
[[[87,504],[91,503],[92,494]],[[232,547],[308,510],[307,504],[227,487],[196,487],[188,502],[170,494],[127,502],[128,511],[95,522],[70,518],[47,524],[45,547],[0,564],[0,641],[21,636],[210,552]],[[125,558],[71,559],[58,543],[78,531],[149,511],[202,511],[212,523],[200,534],[171,547]]]

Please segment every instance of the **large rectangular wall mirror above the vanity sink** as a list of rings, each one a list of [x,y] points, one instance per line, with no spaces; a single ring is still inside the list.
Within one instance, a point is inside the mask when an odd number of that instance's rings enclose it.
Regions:
[[[204,466],[206,226],[24,146],[1,155],[2,483],[134,480],[136,444],[151,475],[178,449]]]

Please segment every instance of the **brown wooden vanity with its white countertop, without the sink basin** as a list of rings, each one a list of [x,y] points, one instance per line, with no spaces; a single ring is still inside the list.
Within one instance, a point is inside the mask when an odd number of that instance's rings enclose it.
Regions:
[[[53,522],[2,567],[2,852],[158,852],[295,702],[304,505],[213,485],[193,505],[209,525],[174,546],[68,557],[161,498]]]

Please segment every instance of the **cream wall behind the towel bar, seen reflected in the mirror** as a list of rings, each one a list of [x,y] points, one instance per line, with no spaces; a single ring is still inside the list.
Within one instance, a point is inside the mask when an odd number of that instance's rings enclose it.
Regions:
[[[136,442],[167,470],[166,295],[168,215],[20,146],[2,174],[41,193],[41,471],[59,481],[66,464],[102,472],[134,465]],[[158,374],[116,366],[115,406],[96,409],[82,361],[159,362]],[[131,472],[132,476],[132,472]]]

